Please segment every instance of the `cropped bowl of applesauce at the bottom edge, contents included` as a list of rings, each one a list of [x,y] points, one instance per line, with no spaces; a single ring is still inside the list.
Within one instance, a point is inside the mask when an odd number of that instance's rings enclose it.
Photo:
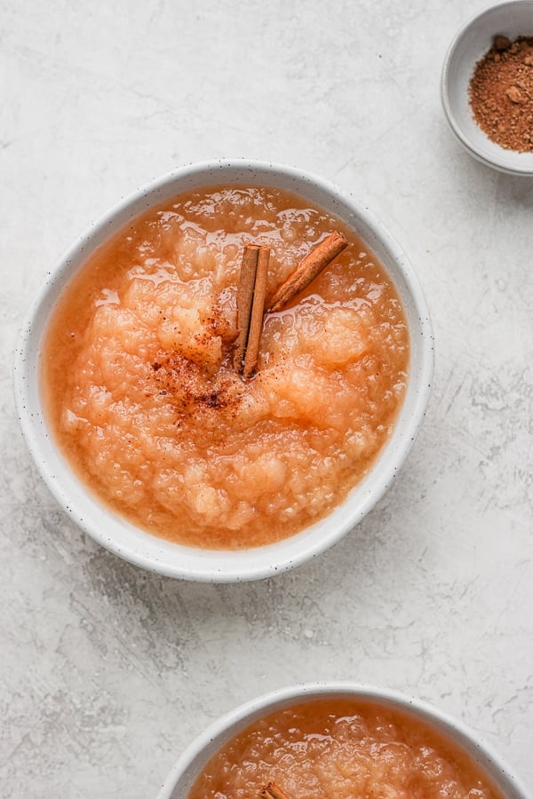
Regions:
[[[158,799],[526,799],[520,780],[462,722],[402,693],[302,684],[211,724]]]

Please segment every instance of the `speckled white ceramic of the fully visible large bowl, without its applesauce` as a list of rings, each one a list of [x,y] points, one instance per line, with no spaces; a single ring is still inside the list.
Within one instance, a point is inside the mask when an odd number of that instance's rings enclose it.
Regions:
[[[391,439],[370,474],[345,502],[303,532],[250,550],[201,550],[164,541],[115,515],[76,478],[55,446],[43,413],[39,384],[44,331],[58,297],[86,257],[148,207],[195,186],[244,183],[270,185],[305,196],[361,234],[386,266],[407,314],[411,339],[410,377]],[[347,533],[386,491],[415,439],[426,411],[433,373],[433,336],[426,302],[402,249],[381,223],[330,183],[288,167],[257,162],[192,164],[172,172],[120,202],[60,259],[45,282],[21,331],[14,385],[22,430],[37,467],[70,517],[108,550],[160,574],[199,581],[244,581],[280,573],[314,558]]]

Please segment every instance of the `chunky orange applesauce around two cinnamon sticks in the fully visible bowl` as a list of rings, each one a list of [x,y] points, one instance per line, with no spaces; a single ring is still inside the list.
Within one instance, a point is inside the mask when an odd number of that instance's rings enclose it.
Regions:
[[[264,317],[235,372],[243,248],[267,296],[329,233],[349,246]],[[239,549],[325,516],[370,469],[401,406],[409,334],[392,281],[338,218],[267,186],[215,186],[148,210],[68,284],[44,341],[47,415],[78,476],[135,525]]]

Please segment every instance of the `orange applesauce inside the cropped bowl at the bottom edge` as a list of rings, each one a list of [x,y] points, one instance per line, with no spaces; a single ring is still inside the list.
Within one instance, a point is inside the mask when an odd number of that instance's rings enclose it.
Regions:
[[[205,765],[187,799],[504,799],[470,755],[414,716],[362,700],[276,710]]]

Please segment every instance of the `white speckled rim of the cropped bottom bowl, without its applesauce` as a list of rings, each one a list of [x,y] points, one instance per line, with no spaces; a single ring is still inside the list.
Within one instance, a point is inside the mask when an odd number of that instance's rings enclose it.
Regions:
[[[480,764],[502,791],[505,799],[527,799],[520,780],[502,762],[501,758],[481,740],[465,724],[452,719],[441,710],[420,700],[405,696],[386,688],[374,688],[357,683],[314,683],[292,685],[279,691],[267,693],[259,699],[247,702],[232,713],[211,724],[179,758],[157,797],[157,799],[186,799],[187,792],[202,771],[205,763],[219,751],[228,740],[242,732],[254,721],[273,713],[274,710],[287,708],[301,701],[323,699],[370,700],[394,708],[426,722],[437,732],[451,739],[458,748]]]

